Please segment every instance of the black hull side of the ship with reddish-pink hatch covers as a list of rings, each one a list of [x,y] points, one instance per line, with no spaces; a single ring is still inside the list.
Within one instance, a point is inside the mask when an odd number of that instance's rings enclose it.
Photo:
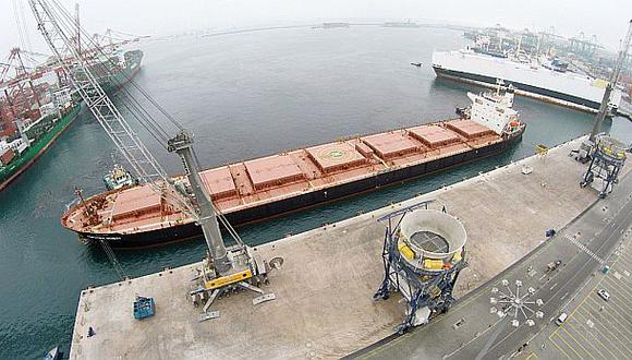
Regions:
[[[382,187],[402,183],[408,180],[420,178],[447,168],[464,165],[486,157],[499,155],[522,139],[524,128],[520,133],[501,142],[479,148],[454,154],[451,156],[437,158],[415,166],[403,167],[391,171],[385,171],[362,180],[341,183],[339,185],[306,192],[296,196],[285,197],[276,202],[243,208],[224,214],[233,226],[243,226],[256,221],[262,221],[288,213],[297,212],[307,207],[323,205],[328,202],[341,200],[363,192],[379,190]],[[106,241],[111,248],[148,248],[170,242],[183,241],[202,237],[202,229],[195,223],[171,226],[168,228],[155,229],[133,233],[94,233],[76,232],[82,242],[98,243]]]

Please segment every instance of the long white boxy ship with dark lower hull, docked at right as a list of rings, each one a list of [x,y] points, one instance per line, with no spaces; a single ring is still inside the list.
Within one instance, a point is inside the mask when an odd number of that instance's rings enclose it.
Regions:
[[[433,52],[437,76],[491,87],[501,80],[519,95],[587,112],[597,112],[607,82],[567,71],[558,59],[520,60],[507,55],[494,56],[476,49]],[[610,111],[615,113],[621,92],[615,89]]]

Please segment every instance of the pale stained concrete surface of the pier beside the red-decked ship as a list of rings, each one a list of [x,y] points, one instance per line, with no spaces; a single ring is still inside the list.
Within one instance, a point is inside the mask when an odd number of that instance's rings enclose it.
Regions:
[[[435,199],[460,218],[469,233],[470,262],[457,283],[460,297],[545,241],[547,229],[559,229],[597,200],[596,191],[579,187],[586,166],[568,156],[579,145],[566,143],[546,156],[259,245],[263,257],[284,259],[265,287],[277,300],[253,305],[252,292],[231,295],[211,307],[220,311],[218,319],[199,323],[202,310],[186,296],[196,264],[86,289],[71,358],[339,358],[353,352],[392,334],[404,316],[399,296],[372,300],[384,276],[384,228],[377,217]],[[531,173],[522,173],[525,167]],[[155,316],[134,320],[136,295],[155,298]],[[96,333],[92,337],[89,326]]]

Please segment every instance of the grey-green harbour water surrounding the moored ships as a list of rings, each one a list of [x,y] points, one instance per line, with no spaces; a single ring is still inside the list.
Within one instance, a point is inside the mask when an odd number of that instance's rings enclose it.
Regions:
[[[375,26],[153,39],[139,45],[145,58],[136,82],[195,133],[206,168],[454,117],[455,106],[469,104],[466,92],[481,89],[437,80],[430,56],[465,44],[454,31]],[[268,242],[454,183],[592,129],[587,113],[523,97],[514,107],[527,129],[501,156],[238,230],[247,243]],[[632,123],[623,118],[607,121],[604,130],[632,141]],[[171,173],[182,171],[174,155],[149,145]],[[54,346],[68,351],[80,291],[119,279],[100,249],[80,243],[59,224],[74,188],[86,195],[104,191],[102,176],[117,158],[83,109],[0,193],[0,359],[36,358]],[[204,241],[192,240],[117,256],[135,277],[198,261],[204,252]]]

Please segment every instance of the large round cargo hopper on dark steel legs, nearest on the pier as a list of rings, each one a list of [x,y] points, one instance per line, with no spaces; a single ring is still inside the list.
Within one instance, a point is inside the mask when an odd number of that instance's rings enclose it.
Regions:
[[[427,324],[447,312],[452,291],[465,261],[466,233],[463,225],[442,211],[429,209],[426,201],[385,215],[382,248],[385,277],[374,300],[399,291],[406,302],[399,334]]]

